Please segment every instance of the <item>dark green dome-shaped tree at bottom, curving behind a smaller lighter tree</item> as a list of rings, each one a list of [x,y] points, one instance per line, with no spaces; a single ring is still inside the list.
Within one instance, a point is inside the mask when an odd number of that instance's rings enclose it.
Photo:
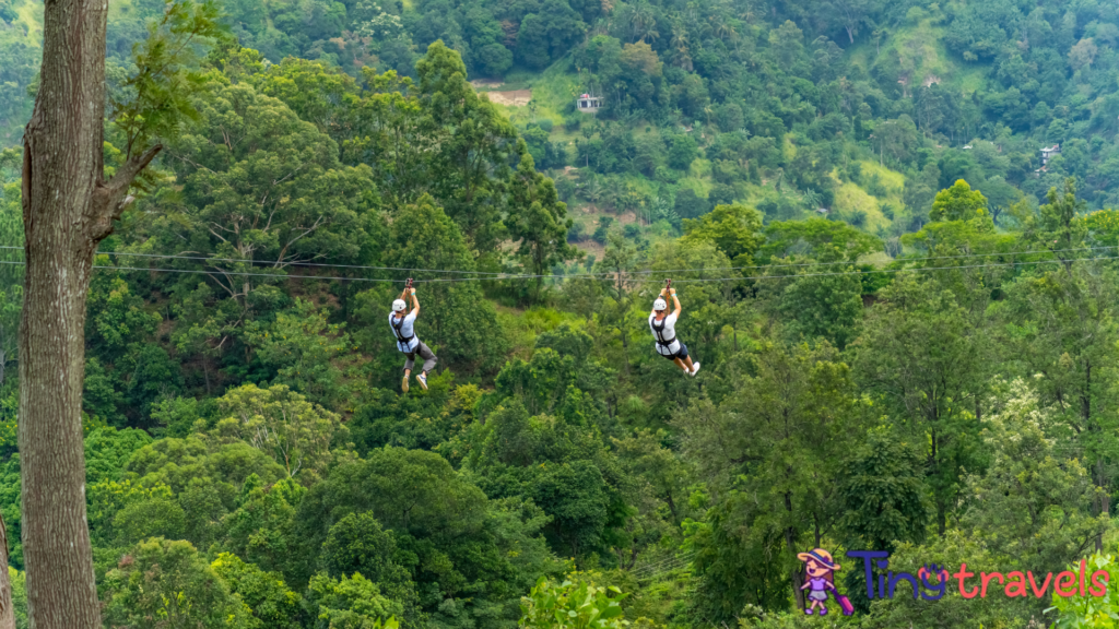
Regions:
[[[417,591],[430,592],[421,600],[432,622],[510,618],[523,591],[518,588],[527,586],[526,578],[538,576],[518,574],[516,569],[517,553],[538,556],[544,545],[534,528],[538,520],[529,519],[530,514],[495,519],[486,495],[438,453],[384,448],[369,452],[364,461],[332,469],[309,490],[294,520],[311,561],[321,551],[330,525],[351,513],[370,513],[393,532],[406,551],[397,556],[412,572]],[[505,531],[495,529],[498,522]],[[304,574],[311,567],[290,566]]]

